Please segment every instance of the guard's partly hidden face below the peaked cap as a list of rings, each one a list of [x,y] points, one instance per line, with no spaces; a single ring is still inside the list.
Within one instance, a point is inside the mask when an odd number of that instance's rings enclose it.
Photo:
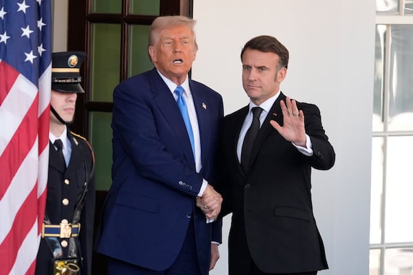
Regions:
[[[71,122],[74,117],[74,110],[76,105],[76,93],[61,93],[60,91],[52,90],[52,95],[50,97],[50,105],[54,110],[61,116],[65,122]],[[50,119],[53,122],[61,124],[59,120],[50,113]]]

